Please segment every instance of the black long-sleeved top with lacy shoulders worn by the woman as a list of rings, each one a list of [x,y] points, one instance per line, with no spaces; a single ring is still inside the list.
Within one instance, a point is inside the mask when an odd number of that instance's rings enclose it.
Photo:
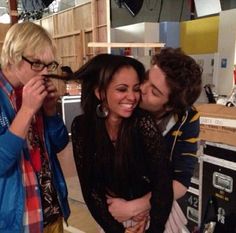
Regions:
[[[94,120],[80,115],[74,119],[71,128],[76,169],[84,200],[92,216],[106,233],[123,233],[124,226],[108,211],[106,194],[132,200],[152,192],[150,227],[146,232],[164,232],[173,202],[172,177],[164,139],[155,121],[144,111],[133,114],[129,123],[133,154],[132,158],[123,160],[121,167],[124,169],[120,174],[124,179],[112,174],[116,147],[107,132],[97,135],[96,127],[99,124],[103,124],[105,129],[104,119]],[[107,151],[110,153],[103,163],[101,151],[104,151],[103,154],[107,154]]]

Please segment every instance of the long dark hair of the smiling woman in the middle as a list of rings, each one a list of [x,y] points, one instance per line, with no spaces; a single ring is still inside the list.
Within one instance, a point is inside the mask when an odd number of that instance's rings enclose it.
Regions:
[[[106,101],[104,93],[108,85],[114,74],[124,67],[134,68],[140,83],[143,81],[143,64],[136,59],[120,55],[99,54],[75,72],[75,78],[82,81],[81,105],[86,118],[85,127],[88,129],[84,136],[87,153],[96,154],[93,166],[100,181],[104,182],[108,189],[122,196],[127,193],[129,179],[135,175],[133,117],[122,120],[114,148],[106,131],[105,119],[96,115],[96,107],[101,101],[96,97],[95,89],[98,89],[102,101]]]

